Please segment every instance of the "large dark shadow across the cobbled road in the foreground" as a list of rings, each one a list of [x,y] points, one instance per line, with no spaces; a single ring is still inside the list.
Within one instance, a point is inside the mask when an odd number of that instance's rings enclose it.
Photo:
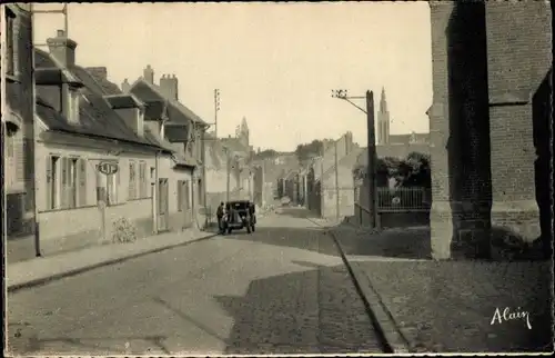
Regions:
[[[226,355],[383,352],[343,266],[254,280],[244,296],[216,296],[233,317]]]

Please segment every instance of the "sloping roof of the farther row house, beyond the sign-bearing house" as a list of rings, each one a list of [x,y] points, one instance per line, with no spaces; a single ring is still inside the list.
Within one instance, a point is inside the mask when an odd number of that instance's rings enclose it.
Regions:
[[[142,101],[150,102],[164,102],[168,101],[168,115],[170,120],[186,123],[188,121],[193,121],[195,123],[205,125],[205,122],[196,116],[192,110],[185,107],[183,103],[167,98],[161,91],[160,87],[153,83],[149,83],[144,79],[137,80],[131,87],[131,92],[139,97]]]

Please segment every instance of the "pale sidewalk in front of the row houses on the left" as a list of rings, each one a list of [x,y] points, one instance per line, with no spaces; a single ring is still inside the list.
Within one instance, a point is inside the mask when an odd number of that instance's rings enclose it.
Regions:
[[[8,291],[42,285],[98,267],[209,239],[215,235],[211,231],[189,229],[151,236],[131,243],[94,246],[79,251],[10,263],[6,270]]]

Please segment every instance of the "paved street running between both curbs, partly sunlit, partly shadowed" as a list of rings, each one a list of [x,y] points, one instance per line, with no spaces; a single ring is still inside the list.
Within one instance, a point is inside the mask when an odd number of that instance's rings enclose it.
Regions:
[[[16,355],[381,352],[332,239],[302,213],[10,295],[9,347]]]

